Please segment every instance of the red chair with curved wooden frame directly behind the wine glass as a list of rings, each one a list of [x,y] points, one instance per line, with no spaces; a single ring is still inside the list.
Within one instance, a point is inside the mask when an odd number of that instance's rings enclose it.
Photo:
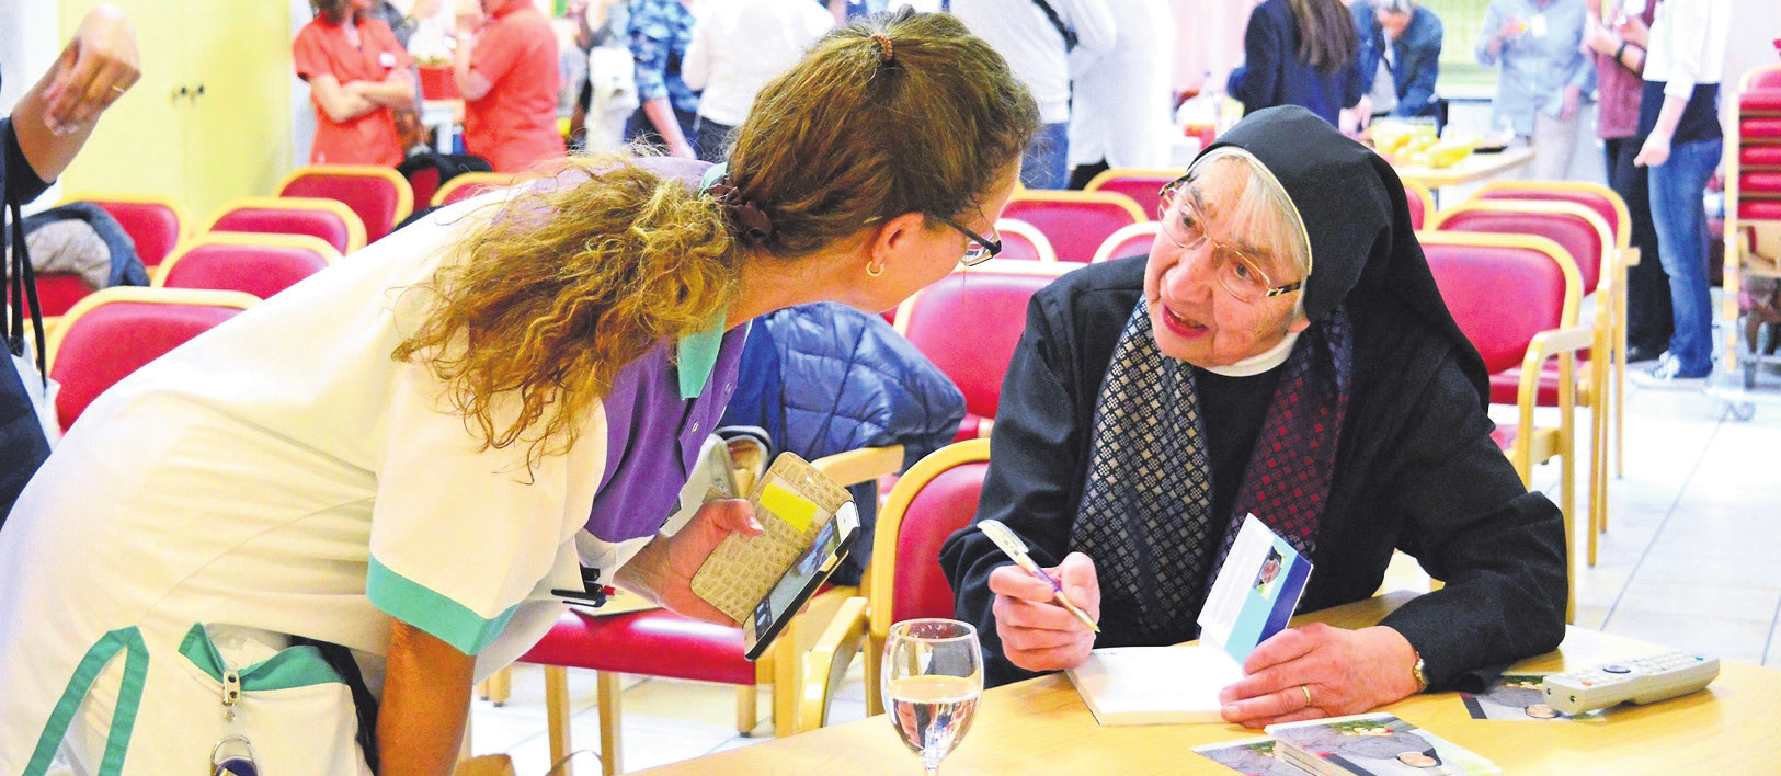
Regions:
[[[841,616],[830,621],[805,662],[800,732],[819,728],[828,717],[834,680],[853,660],[850,650],[837,646],[850,632],[866,632],[866,714],[883,714],[878,673],[890,625],[953,616],[953,587],[940,571],[940,545],[976,516],[988,461],[990,440],[955,441],[910,466],[890,488],[873,534],[867,603],[864,610],[842,607],[839,614],[853,621]]]

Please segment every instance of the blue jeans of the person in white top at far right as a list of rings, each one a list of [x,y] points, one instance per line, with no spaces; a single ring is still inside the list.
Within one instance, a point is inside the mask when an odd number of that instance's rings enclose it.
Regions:
[[[1671,306],[1676,333],[1669,352],[1683,377],[1706,377],[1713,370],[1713,310],[1706,288],[1706,206],[1701,194],[1719,166],[1722,141],[1696,141],[1671,148],[1667,162],[1651,167],[1651,222],[1658,230],[1658,255],[1671,276]]]

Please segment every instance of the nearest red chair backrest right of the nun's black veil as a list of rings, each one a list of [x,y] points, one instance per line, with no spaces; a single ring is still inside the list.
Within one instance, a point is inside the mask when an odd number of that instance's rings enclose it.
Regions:
[[[1491,374],[1521,367],[1533,335],[1576,322],[1571,255],[1537,235],[1421,231],[1441,299]]]

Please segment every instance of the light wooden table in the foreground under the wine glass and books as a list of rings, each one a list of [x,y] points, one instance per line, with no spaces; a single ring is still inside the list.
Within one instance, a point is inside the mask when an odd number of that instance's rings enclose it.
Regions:
[[[1412,598],[1398,591],[1295,619],[1359,628]],[[1569,628],[1558,651],[1516,669],[1555,671],[1665,651],[1594,630]],[[1496,762],[1505,774],[1742,774],[1776,767],[1781,751],[1781,671],[1722,660],[1704,691],[1649,707],[1617,707],[1605,723],[1471,719],[1455,692],[1421,694],[1384,707],[1443,739]],[[1061,675],[983,694],[965,740],[940,765],[958,774],[1225,774],[1190,748],[1261,735],[1234,724],[1102,728]],[[914,776],[921,760],[882,717],[823,728],[686,760],[650,774],[857,774]]]

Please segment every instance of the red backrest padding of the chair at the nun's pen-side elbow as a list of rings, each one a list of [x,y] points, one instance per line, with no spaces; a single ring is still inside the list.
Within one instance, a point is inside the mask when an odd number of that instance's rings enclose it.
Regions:
[[[953,587],[940,573],[940,545],[976,516],[988,466],[978,461],[940,472],[910,500],[898,532],[890,621],[953,616]]]

